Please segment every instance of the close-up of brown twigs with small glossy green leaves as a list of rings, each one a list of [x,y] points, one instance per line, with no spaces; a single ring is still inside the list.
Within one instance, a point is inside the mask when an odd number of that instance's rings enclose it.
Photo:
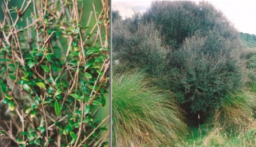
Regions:
[[[1,6],[0,146],[106,146],[109,116],[93,118],[106,103],[108,3],[95,27],[82,24],[82,2]]]

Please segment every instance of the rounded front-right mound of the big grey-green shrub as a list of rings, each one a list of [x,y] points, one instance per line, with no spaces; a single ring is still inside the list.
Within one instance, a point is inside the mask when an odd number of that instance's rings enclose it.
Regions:
[[[196,33],[173,52],[170,88],[179,104],[189,111],[208,111],[220,105],[228,91],[243,86],[244,68],[239,51],[216,31],[207,36]],[[216,40],[218,40],[216,43]],[[188,107],[190,107],[190,109]]]

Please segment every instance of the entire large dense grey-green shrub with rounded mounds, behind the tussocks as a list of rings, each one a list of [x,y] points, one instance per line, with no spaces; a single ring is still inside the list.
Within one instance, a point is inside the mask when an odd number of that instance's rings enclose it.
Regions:
[[[113,52],[151,69],[155,84],[171,90],[187,112],[214,110],[246,81],[239,33],[210,3],[155,1],[113,30]],[[157,35],[150,37],[152,32]]]

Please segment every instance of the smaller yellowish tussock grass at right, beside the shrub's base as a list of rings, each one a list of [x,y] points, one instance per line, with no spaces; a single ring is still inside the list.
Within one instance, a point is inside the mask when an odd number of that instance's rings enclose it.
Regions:
[[[251,91],[229,93],[223,98],[223,104],[214,115],[215,127],[221,127],[225,132],[235,134],[240,128],[247,129],[253,119],[253,109],[256,105],[256,96]]]

